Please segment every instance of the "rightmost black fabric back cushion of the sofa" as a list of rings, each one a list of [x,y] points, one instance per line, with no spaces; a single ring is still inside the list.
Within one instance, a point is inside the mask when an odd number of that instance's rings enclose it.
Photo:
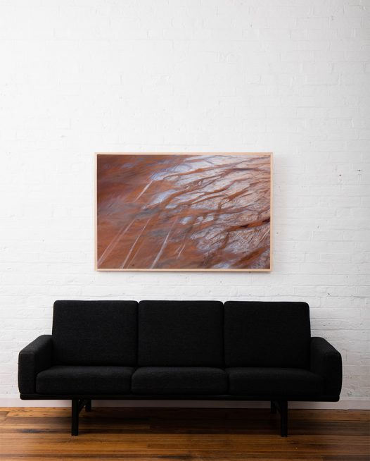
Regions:
[[[224,304],[227,367],[310,368],[310,309],[305,302]]]

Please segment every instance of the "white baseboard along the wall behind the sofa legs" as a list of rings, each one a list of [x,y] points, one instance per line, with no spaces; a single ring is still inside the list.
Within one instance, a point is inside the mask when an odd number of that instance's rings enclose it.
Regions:
[[[94,400],[94,407],[127,408],[267,408],[269,402],[239,402],[218,400]],[[20,400],[16,395],[0,395],[0,407],[70,407],[70,400]],[[339,402],[289,402],[289,408],[370,410],[368,399]]]

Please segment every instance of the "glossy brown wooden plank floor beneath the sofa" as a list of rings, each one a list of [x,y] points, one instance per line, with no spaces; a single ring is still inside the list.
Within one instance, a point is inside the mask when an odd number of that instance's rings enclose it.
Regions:
[[[93,402],[94,405],[94,402]],[[369,412],[95,408],[70,436],[70,408],[0,408],[0,460],[369,461]]]

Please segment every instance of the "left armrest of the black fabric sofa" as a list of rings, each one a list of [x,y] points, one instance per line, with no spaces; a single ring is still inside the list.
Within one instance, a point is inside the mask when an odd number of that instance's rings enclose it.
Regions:
[[[42,335],[23,348],[18,357],[18,388],[21,394],[36,392],[39,371],[51,367],[53,343],[51,335]]]

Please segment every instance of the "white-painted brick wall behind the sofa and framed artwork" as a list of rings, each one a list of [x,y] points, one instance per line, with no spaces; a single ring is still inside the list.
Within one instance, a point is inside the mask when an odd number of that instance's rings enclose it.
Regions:
[[[305,300],[369,398],[370,1],[1,0],[2,403],[60,298]],[[274,152],[272,273],[94,271],[94,152]]]

